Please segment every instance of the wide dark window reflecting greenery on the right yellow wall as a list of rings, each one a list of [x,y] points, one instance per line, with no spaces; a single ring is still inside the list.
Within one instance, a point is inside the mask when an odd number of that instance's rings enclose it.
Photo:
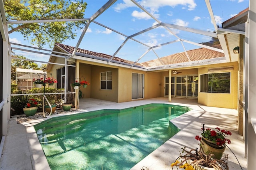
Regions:
[[[230,73],[203,74],[200,79],[200,92],[230,93]]]

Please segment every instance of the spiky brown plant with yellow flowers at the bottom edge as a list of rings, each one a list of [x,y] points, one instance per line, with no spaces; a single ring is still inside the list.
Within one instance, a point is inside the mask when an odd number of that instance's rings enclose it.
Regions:
[[[181,149],[182,154],[171,164],[172,169],[174,166],[186,170],[222,170],[228,168],[228,164],[223,160],[216,159],[214,154],[206,154],[197,148],[190,151],[186,147]]]

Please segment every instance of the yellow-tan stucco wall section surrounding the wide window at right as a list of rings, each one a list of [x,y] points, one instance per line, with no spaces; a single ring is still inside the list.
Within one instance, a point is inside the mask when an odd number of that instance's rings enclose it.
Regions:
[[[222,72],[231,73],[230,94],[200,92],[200,75],[208,73],[208,68],[226,67],[226,66],[234,66],[234,70],[232,71],[222,71]],[[216,73],[220,73],[220,72],[216,72]],[[199,104],[211,106],[211,107],[224,107],[224,108],[237,109],[238,107],[237,105],[238,104],[238,62],[214,64],[214,65],[208,65],[207,67],[199,68],[198,76],[199,76],[199,90],[198,90]]]

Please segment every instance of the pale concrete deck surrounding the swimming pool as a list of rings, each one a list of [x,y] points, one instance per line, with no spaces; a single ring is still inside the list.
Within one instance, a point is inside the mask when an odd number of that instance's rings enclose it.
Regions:
[[[168,98],[166,97],[124,103],[98,99],[80,99],[80,109],[78,109],[78,111],[74,110],[69,113],[52,115],[51,117],[100,109],[124,109],[149,103],[182,105],[188,106],[192,110],[173,119],[172,123],[181,129],[180,132],[146,156],[146,158],[131,168],[132,170],[140,170],[143,167],[147,167],[150,170],[172,169],[170,164],[179,156],[182,147],[186,146],[188,150],[198,147],[198,141],[195,140],[194,137],[201,133],[201,123],[204,123],[206,128],[219,127],[221,129],[230,130],[232,135],[228,136],[228,138],[231,140],[231,144],[229,144],[228,147],[236,155],[242,169],[247,169],[247,161],[246,158],[244,158],[244,140],[242,140],[242,136],[238,135],[237,110],[235,109],[206,107],[199,105],[197,100],[194,99],[172,98],[172,102],[168,102]],[[33,127],[36,123],[46,119],[50,119],[50,116],[33,119],[22,124],[17,124],[15,117],[10,119],[8,122],[8,135],[3,137],[4,145],[0,148],[2,151],[0,159],[1,170],[50,169]],[[241,169],[236,157],[228,148],[226,148],[224,153],[228,154],[229,170]]]

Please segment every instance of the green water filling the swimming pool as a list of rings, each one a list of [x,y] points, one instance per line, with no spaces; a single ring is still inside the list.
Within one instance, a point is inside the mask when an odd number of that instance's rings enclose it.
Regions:
[[[34,128],[52,170],[128,170],[179,129],[190,109],[150,104],[51,118]]]

